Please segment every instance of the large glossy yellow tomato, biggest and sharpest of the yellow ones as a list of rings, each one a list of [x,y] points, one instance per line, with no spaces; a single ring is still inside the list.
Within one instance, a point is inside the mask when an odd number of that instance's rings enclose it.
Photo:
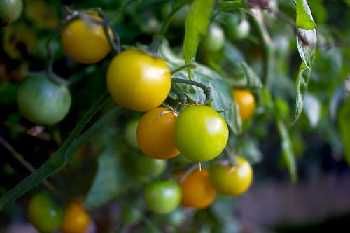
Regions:
[[[172,78],[162,60],[130,49],[113,58],[107,87],[117,104],[133,111],[150,111],[167,98]]]

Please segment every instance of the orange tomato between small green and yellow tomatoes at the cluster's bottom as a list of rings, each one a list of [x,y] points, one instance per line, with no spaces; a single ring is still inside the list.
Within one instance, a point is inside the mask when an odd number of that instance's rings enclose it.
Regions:
[[[184,171],[176,174],[180,178]],[[182,190],[181,205],[203,209],[209,206],[215,199],[216,191],[210,183],[209,171],[207,169],[196,169],[183,179],[180,183]]]

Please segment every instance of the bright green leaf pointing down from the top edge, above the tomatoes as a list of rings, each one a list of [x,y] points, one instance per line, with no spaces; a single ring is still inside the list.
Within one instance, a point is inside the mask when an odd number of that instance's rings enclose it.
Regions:
[[[186,33],[183,42],[183,57],[186,64],[193,61],[200,36],[207,33],[214,0],[194,0],[186,19]]]

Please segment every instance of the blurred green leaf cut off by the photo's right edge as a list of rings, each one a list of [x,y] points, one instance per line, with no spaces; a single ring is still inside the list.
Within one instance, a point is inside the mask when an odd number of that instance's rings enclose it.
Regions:
[[[350,166],[350,98],[346,99],[344,105],[339,109],[337,118],[340,135],[344,145],[344,159]]]

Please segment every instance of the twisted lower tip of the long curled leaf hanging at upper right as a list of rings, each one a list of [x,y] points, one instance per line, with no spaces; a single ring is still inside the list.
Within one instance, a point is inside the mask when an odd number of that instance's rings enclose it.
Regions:
[[[302,113],[302,108],[304,106],[304,94],[307,91],[307,85],[309,83],[311,71],[307,69],[304,62],[300,65],[299,73],[297,74],[296,90],[297,96],[295,98],[295,115],[293,123],[297,121]]]

